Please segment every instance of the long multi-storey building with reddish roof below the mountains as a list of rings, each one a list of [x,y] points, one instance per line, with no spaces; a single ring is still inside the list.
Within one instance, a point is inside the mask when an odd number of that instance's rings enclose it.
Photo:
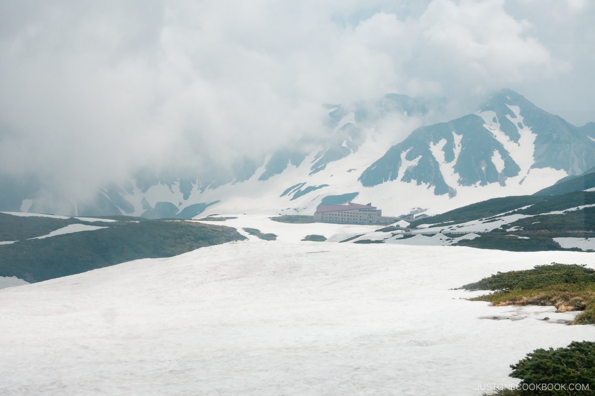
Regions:
[[[372,206],[354,204],[347,205],[319,205],[314,213],[314,221],[320,223],[345,223],[345,224],[391,224],[396,221],[394,217],[383,217],[382,210]]]

